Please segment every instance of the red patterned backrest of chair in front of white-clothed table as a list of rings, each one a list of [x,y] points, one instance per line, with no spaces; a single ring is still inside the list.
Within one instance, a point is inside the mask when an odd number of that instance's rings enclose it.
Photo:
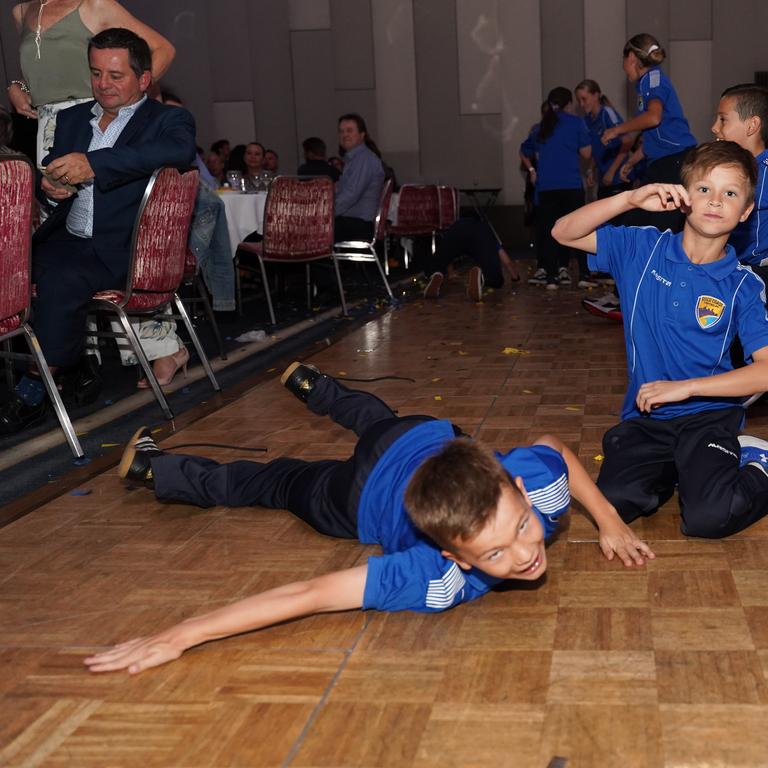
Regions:
[[[263,258],[306,261],[333,251],[333,182],[277,176],[264,206]]]

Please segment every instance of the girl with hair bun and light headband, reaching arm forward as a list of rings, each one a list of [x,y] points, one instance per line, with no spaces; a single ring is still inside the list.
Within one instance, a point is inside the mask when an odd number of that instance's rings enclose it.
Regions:
[[[696,145],[688,121],[683,114],[680,100],[669,81],[659,68],[666,58],[659,41],[647,33],[635,35],[624,46],[624,72],[637,90],[637,115],[603,133],[602,142],[608,145],[618,136],[642,131],[642,148],[635,151],[624,163],[622,177],[628,178],[631,168],[642,158],[648,161],[644,184],[680,184],[680,166],[688,150]],[[642,213],[642,212],[638,212]],[[628,221],[628,224],[653,224],[659,229],[679,231],[683,215],[679,211],[652,214],[648,220]]]

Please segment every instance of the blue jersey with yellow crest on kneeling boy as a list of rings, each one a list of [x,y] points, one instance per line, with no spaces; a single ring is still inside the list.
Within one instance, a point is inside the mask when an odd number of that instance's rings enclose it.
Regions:
[[[597,230],[590,269],[610,272],[622,298],[629,375],[622,419],[641,415],[635,398],[646,382],[732,370],[729,349],[736,335],[746,360],[768,346],[763,281],[739,264],[730,246],[722,259],[694,264],[682,241],[682,233],[655,227],[606,225]],[[740,402],[694,397],[661,405],[650,417],[673,419]]]

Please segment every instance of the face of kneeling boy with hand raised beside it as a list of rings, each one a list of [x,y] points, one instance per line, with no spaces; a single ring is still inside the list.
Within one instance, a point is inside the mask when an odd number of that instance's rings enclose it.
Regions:
[[[746,221],[754,200],[742,171],[735,165],[716,165],[688,186],[691,210],[686,221],[697,233],[720,237]]]

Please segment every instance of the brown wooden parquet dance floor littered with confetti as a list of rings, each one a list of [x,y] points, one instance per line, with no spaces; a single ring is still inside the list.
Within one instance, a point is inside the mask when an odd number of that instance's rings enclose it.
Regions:
[[[499,448],[555,432],[596,474],[625,361],[620,326],[580,298],[523,285],[475,305],[455,283],[312,362],[412,377],[361,386]],[[310,414],[279,373],[164,445],[346,457],[352,436]],[[749,431],[768,436],[760,406]],[[766,521],[685,539],[668,504],[637,526],[658,559],[625,569],[573,510],[541,583],[440,615],[295,621],[128,677],[91,675],[82,659],[373,549],[286,512],[160,504],[114,470],[85,490],[0,530],[2,766],[768,766]]]

